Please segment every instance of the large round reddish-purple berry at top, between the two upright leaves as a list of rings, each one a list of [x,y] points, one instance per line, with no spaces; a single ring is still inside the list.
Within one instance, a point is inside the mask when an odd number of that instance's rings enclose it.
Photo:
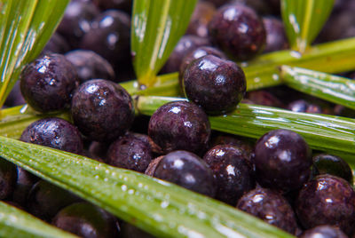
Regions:
[[[209,21],[213,44],[236,60],[248,60],[263,52],[266,33],[256,12],[243,4],[227,4]]]

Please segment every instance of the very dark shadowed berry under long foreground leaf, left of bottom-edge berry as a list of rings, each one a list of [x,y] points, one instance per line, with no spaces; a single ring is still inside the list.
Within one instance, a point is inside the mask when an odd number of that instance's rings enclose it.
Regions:
[[[38,218],[50,221],[59,210],[81,199],[59,186],[38,181],[28,194],[27,208]]]

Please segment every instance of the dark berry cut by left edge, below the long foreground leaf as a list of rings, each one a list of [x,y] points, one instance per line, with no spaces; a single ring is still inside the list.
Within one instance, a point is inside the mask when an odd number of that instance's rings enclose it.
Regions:
[[[11,198],[16,179],[16,165],[0,157],[0,200]]]

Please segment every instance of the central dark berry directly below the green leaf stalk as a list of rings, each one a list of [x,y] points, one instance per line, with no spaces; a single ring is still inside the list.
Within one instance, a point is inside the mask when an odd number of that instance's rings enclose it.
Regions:
[[[162,153],[181,149],[199,154],[209,143],[209,118],[191,102],[173,101],[154,112],[148,136]]]

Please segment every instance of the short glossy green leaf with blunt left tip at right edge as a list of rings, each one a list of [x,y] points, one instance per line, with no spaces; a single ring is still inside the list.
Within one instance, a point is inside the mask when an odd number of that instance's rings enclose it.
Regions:
[[[302,67],[282,66],[280,72],[284,82],[297,91],[355,109],[355,82],[349,78]]]

